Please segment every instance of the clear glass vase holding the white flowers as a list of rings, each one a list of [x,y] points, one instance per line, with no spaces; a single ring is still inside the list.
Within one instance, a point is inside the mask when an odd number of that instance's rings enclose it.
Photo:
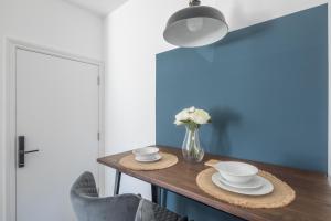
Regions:
[[[182,152],[185,160],[201,162],[204,151],[200,146],[199,128],[186,126],[186,134],[182,145]]]

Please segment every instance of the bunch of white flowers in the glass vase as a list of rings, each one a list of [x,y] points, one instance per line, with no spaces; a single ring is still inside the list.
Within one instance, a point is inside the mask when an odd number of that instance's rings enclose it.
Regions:
[[[211,120],[211,116],[204,109],[197,109],[190,107],[181,110],[175,115],[175,125],[183,125],[194,123],[196,125],[207,124]]]

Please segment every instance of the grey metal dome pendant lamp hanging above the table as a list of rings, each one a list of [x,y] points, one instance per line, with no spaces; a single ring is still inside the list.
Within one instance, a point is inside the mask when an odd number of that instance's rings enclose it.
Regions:
[[[221,11],[200,6],[200,0],[190,0],[190,7],[170,17],[163,38],[170,44],[183,48],[209,45],[223,39],[228,25]]]

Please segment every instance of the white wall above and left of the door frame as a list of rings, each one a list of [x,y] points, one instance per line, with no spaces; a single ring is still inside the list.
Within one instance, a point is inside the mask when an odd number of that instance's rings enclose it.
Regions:
[[[0,0],[0,220],[4,215],[6,36],[100,60],[103,21],[62,0]]]

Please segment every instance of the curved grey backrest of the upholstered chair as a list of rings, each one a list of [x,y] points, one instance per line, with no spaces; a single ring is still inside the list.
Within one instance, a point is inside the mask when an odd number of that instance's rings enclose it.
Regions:
[[[71,189],[71,200],[78,221],[132,221],[140,198],[136,194],[99,198],[93,175],[84,172]]]

